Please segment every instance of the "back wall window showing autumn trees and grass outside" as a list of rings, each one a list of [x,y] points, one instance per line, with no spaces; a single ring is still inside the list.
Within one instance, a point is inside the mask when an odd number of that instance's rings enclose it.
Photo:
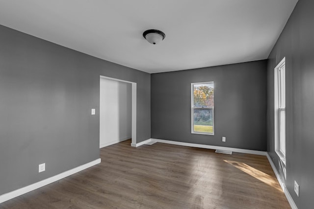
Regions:
[[[192,133],[214,135],[214,82],[191,84]]]

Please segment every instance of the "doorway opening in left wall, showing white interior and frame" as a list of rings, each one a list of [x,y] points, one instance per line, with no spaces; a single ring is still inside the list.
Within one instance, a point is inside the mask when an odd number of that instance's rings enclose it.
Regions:
[[[101,75],[99,108],[100,148],[130,138],[136,144],[136,83]]]

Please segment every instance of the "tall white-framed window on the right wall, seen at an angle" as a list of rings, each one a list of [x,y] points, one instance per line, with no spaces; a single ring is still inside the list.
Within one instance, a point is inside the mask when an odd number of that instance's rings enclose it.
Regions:
[[[286,163],[286,59],[275,68],[275,151]]]

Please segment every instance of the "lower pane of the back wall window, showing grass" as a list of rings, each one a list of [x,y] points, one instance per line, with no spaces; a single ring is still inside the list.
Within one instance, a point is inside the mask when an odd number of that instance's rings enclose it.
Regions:
[[[203,133],[213,133],[212,108],[194,109],[193,131]]]

